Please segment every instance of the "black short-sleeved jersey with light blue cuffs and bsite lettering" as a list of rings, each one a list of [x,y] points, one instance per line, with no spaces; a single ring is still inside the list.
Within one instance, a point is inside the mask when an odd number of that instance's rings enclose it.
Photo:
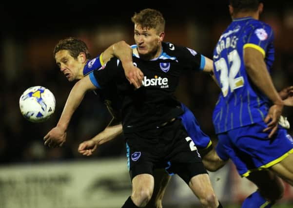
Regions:
[[[135,48],[136,46],[133,46]],[[174,96],[183,70],[202,70],[205,58],[194,50],[162,43],[162,52],[152,60],[133,54],[133,64],[144,74],[143,86],[135,89],[124,75],[121,62],[112,58],[102,70],[90,74],[98,88],[117,86],[121,96],[123,132],[139,132],[157,126],[183,113]]]

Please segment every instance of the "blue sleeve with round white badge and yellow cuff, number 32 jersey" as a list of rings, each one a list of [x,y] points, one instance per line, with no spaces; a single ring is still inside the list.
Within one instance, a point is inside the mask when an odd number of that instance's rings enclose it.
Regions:
[[[269,51],[268,47],[271,46],[274,38],[272,28],[267,24],[258,23],[257,25],[250,26],[248,30],[247,40],[243,49],[247,47],[254,48],[266,57],[266,53]]]

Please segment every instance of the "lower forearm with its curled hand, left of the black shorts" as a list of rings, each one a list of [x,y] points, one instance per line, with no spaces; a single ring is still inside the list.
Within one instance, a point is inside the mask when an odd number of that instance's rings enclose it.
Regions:
[[[78,147],[78,152],[83,155],[90,156],[93,154],[93,152],[97,149],[99,145],[114,139],[121,133],[121,124],[115,126],[108,126],[104,131],[98,133],[92,139],[80,143]]]

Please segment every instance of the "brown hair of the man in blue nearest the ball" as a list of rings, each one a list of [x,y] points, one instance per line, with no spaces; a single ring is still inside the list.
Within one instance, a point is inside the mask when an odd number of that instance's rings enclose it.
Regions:
[[[68,50],[69,54],[75,59],[78,57],[79,53],[81,52],[85,53],[85,56],[87,59],[91,58],[91,55],[89,53],[89,50],[85,42],[76,38],[61,39],[54,48],[54,51],[53,51],[54,58],[57,52],[61,50]]]

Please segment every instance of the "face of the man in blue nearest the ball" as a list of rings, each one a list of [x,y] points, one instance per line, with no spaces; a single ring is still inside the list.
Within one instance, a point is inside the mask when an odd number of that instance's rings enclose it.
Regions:
[[[68,50],[60,50],[55,55],[55,60],[60,71],[66,76],[68,81],[80,79],[82,77],[82,63],[79,59],[72,57]]]

